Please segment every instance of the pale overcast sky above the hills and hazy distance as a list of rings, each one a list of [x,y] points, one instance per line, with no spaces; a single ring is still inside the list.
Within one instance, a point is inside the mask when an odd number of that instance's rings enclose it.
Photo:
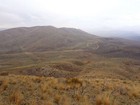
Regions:
[[[90,31],[140,26],[140,0],[0,0],[0,28],[38,25]]]

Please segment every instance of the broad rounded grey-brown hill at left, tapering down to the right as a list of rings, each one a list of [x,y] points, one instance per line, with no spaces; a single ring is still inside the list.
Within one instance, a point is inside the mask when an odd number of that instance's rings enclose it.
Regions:
[[[33,44],[37,43],[33,46],[35,48],[45,46],[44,43],[46,43],[46,46],[49,45],[46,47],[47,50],[47,48],[51,47],[51,45],[52,47],[63,47],[65,45],[71,46],[70,44],[72,43],[74,44],[79,41],[85,41],[90,38],[90,34],[74,28],[56,28],[53,26],[20,27],[1,31],[0,46],[2,48],[2,45],[10,43],[10,45],[13,46],[18,44],[20,47],[26,47],[28,45],[28,47],[31,48]],[[9,45],[7,45],[7,47],[8,46]],[[20,50],[20,48],[17,49]]]

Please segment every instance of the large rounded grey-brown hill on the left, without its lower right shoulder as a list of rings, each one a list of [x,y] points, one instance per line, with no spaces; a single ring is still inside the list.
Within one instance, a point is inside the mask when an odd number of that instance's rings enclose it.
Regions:
[[[95,37],[72,28],[52,26],[13,28],[0,32],[0,52],[57,50],[84,43]]]

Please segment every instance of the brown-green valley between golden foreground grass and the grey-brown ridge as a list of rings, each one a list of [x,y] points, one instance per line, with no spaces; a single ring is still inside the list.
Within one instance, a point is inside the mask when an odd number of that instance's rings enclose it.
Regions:
[[[140,62],[122,57],[103,57],[87,51],[2,54],[1,72],[53,77],[140,79]]]

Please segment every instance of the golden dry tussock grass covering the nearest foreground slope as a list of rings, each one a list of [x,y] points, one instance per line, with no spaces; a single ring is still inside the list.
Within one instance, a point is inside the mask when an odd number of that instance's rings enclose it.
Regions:
[[[1,76],[0,105],[139,105],[140,81]]]

